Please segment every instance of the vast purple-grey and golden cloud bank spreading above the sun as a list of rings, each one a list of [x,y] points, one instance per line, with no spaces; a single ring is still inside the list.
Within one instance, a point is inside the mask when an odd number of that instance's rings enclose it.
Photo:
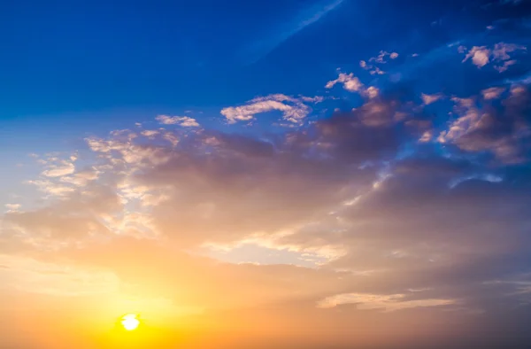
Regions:
[[[439,95],[421,104],[408,86],[353,74],[327,88],[338,83],[362,98],[279,94],[222,111],[229,122],[278,111],[297,128],[123,129],[74,155],[39,155],[45,171],[76,167],[30,180],[48,197],[24,211],[5,206],[1,292],[51,304],[45,325],[61,323],[58,309],[92,309],[104,324],[138,306],[165,324],[179,314],[201,337],[234,326],[250,342],[305,346],[323,328],[345,347],[419,345],[456,327],[487,336],[486,324],[526,334],[513,325],[529,314],[527,86],[451,97],[435,118],[423,106]],[[330,112],[304,123],[322,102]]]

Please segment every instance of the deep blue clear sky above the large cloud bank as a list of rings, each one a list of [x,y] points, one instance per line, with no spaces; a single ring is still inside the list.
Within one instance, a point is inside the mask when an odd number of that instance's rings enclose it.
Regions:
[[[525,42],[526,33],[511,20],[498,26],[505,26],[503,35],[485,33],[496,20],[525,19],[525,3],[4,2],[0,147],[13,147],[20,136],[31,140],[43,129],[57,141],[76,130],[96,132],[98,125],[115,128],[158,113],[193,109],[212,119],[220,108],[252,97],[319,95],[336,68],[379,88],[398,79],[406,86],[414,81],[423,92],[466,96],[478,86],[522,76],[526,67],[503,77],[479,74],[460,65],[447,45],[495,43],[511,30],[513,42]],[[395,75],[391,70],[374,79],[358,61],[380,50],[401,57]],[[419,57],[410,58],[413,53]],[[15,136],[21,125],[26,132]]]

